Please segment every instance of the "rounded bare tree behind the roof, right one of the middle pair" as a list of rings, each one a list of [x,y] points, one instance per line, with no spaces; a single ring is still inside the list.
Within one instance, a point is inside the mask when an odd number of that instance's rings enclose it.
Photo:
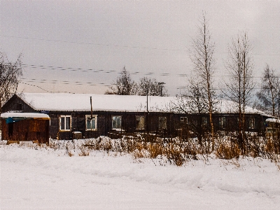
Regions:
[[[140,78],[137,84],[137,94],[152,96],[167,96],[167,90],[155,78]]]

